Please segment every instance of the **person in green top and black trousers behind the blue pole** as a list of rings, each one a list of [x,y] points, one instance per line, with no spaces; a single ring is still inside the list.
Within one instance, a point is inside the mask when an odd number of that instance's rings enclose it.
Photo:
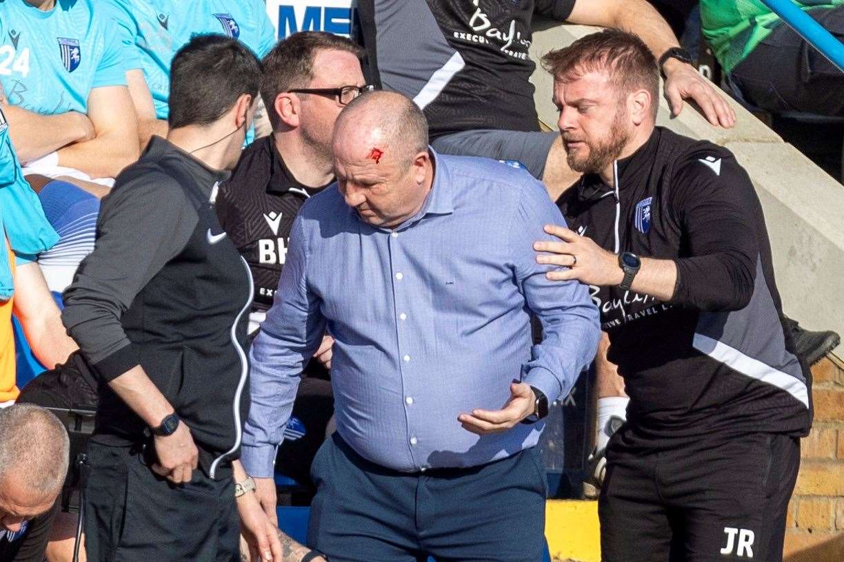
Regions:
[[[844,0],[795,3],[844,38]],[[702,0],[701,21],[718,62],[749,104],[844,117],[844,72],[760,0]]]

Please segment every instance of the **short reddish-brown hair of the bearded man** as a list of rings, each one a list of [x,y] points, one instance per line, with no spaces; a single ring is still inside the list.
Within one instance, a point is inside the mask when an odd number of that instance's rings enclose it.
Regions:
[[[621,95],[637,89],[651,94],[652,115],[659,106],[657,60],[639,37],[620,29],[604,29],[542,57],[542,66],[555,79],[570,80],[586,72],[609,71]]]

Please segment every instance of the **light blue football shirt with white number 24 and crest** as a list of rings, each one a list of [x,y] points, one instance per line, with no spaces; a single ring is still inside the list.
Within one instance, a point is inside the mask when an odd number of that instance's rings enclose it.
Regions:
[[[42,12],[24,0],[0,2],[0,84],[10,104],[87,113],[93,88],[126,85],[120,41],[94,4],[61,1]]]

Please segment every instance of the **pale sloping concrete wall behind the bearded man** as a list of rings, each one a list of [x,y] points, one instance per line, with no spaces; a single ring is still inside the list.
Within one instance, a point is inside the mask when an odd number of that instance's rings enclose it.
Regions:
[[[535,28],[534,60],[596,30],[543,20]],[[537,88],[539,119],[555,129],[552,79],[538,67],[531,81]],[[844,186],[744,108],[732,104],[738,115],[733,129],[710,126],[689,105],[669,120],[664,99],[658,124],[733,151],[753,179],[765,210],[783,310],[808,329],[835,329],[844,335]],[[841,347],[836,352],[844,356]]]

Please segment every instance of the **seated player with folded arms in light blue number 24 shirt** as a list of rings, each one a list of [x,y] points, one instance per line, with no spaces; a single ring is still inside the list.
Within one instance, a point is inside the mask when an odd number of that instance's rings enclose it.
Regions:
[[[93,0],[0,3],[7,54],[0,106],[24,174],[111,179],[138,158],[132,99],[109,23]]]

